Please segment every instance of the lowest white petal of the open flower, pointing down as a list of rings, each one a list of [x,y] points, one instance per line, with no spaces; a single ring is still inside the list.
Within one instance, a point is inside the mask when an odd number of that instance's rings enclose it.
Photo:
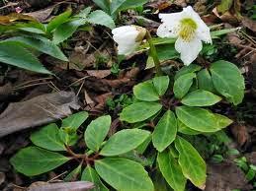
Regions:
[[[181,53],[181,60],[187,66],[198,57],[202,47],[202,41],[198,37],[194,37],[191,41],[184,41],[178,37],[175,42],[175,49]]]

